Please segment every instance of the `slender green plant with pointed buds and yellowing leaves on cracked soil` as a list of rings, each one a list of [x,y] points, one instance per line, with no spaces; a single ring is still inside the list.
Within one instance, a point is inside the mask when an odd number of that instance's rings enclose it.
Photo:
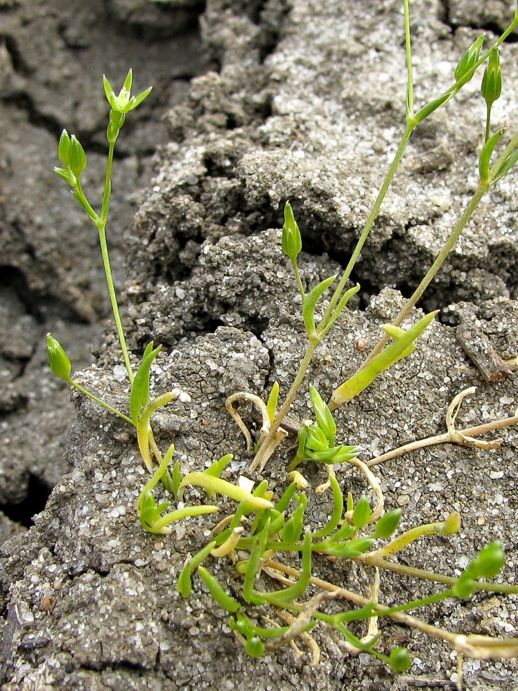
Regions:
[[[476,209],[482,196],[492,185],[504,176],[518,160],[518,133],[510,139],[503,151],[492,163],[495,150],[503,137],[503,130],[491,132],[492,104],[501,93],[501,70],[499,66],[499,46],[502,41],[518,26],[518,10],[510,26],[503,35],[486,52],[482,53],[484,36],[481,35],[468,48],[463,55],[454,74],[454,84],[443,94],[419,110],[414,108],[413,81],[412,81],[412,51],[410,44],[410,10],[408,0],[403,0],[405,21],[405,47],[407,61],[407,95],[406,95],[406,124],[401,142],[381,190],[378,193],[372,212],[361,232],[358,243],[352,253],[349,263],[338,283],[338,276],[330,276],[321,281],[308,292],[305,290],[303,276],[298,267],[298,256],[302,249],[300,229],[294,217],[293,209],[289,202],[285,205],[285,223],[282,227],[282,251],[289,258],[294,269],[296,283],[302,298],[302,320],[307,336],[307,347],[300,363],[300,367],[294,378],[291,388],[282,404],[279,404],[279,386],[274,384],[267,403],[257,395],[238,392],[227,400],[227,409],[240,426],[245,438],[247,448],[251,451],[253,444],[251,435],[244,422],[237,413],[234,404],[246,400],[256,405],[262,415],[262,427],[260,438],[256,444],[256,455],[253,458],[250,470],[259,468],[262,471],[265,464],[276,451],[276,448],[287,437],[285,419],[287,412],[294,401],[298,390],[303,384],[307,368],[318,345],[336,323],[340,314],[345,309],[347,302],[358,292],[359,285],[349,287],[347,283],[352,269],[361,249],[367,240],[367,236],[378,215],[387,189],[390,186],[394,173],[401,162],[405,146],[414,129],[426,117],[430,116],[437,108],[446,104],[455,97],[461,88],[472,79],[475,71],[487,62],[486,72],[483,76],[481,94],[486,102],[486,128],[484,144],[479,156],[479,185],[474,192],[466,211],[455,225],[450,237],[437,256],[432,267],[425,275],[414,294],[407,301],[401,313],[392,324],[382,325],[383,337],[376,348],[369,354],[361,368],[352,377],[343,382],[333,392],[329,404],[326,404],[314,386],[309,387],[309,395],[314,410],[314,422],[305,421],[298,429],[298,448],[293,459],[287,467],[287,472],[292,478],[291,482],[276,499],[274,491],[268,489],[266,479],[262,479],[256,489],[253,482],[246,477],[240,477],[236,483],[224,480],[227,464],[232,455],[227,454],[216,460],[205,471],[194,471],[182,476],[178,460],[174,461],[174,446],[171,445],[164,456],[155,443],[151,419],[153,414],[161,406],[169,404],[175,398],[189,401],[188,395],[180,390],[166,392],[150,399],[150,371],[154,359],[157,357],[160,347],[154,348],[149,343],[144,350],[140,364],[133,370],[132,356],[126,348],[122,321],[119,316],[115,287],[111,274],[108,247],[106,244],[106,224],[108,222],[108,210],[111,193],[111,168],[113,164],[113,152],[119,131],[124,124],[126,113],[136,108],[150,93],[151,88],[142,92],[137,97],[131,96],[132,73],[128,76],[118,95],[115,95],[111,84],[106,77],[103,78],[106,98],[111,105],[111,113],[107,129],[109,144],[108,161],[106,165],[106,180],[104,196],[100,214],[93,209],[81,188],[81,173],[86,167],[86,155],[75,138],[66,131],[59,140],[58,154],[63,168],[57,168],[56,172],[72,188],[73,194],[86,214],[93,221],[99,233],[99,241],[102,250],[104,269],[108,293],[111,299],[113,315],[122,357],[126,366],[128,380],[131,384],[131,393],[128,400],[128,413],[117,410],[106,401],[99,399],[93,392],[86,390],[71,377],[71,364],[66,352],[61,345],[48,334],[47,346],[50,359],[50,367],[57,377],[61,377],[82,394],[104,406],[108,411],[118,415],[125,422],[135,427],[137,442],[142,455],[142,460],[151,475],[150,480],[142,489],[137,501],[137,516],[142,527],[150,532],[160,535],[171,533],[171,526],[175,521],[182,520],[186,516],[209,515],[220,511],[216,504],[184,504],[184,493],[189,491],[189,486],[202,487],[207,493],[207,500],[212,500],[214,495],[224,497],[237,502],[233,513],[225,515],[213,528],[212,539],[198,553],[187,558],[182,571],[178,576],[178,591],[187,598],[193,588],[193,578],[200,579],[207,588],[215,602],[229,613],[229,626],[235,633],[236,639],[242,643],[245,650],[253,656],[260,657],[265,652],[271,652],[280,645],[294,645],[294,638],[300,639],[311,650],[312,663],[318,663],[319,648],[311,631],[320,623],[330,627],[338,638],[340,645],[346,650],[363,650],[390,665],[395,672],[402,672],[410,667],[411,661],[408,652],[401,647],[395,647],[386,655],[378,650],[380,634],[377,620],[380,616],[392,618],[400,623],[405,623],[429,634],[437,636],[453,645],[459,654],[468,654],[481,659],[496,657],[510,657],[518,655],[517,639],[493,639],[488,636],[462,636],[454,632],[430,625],[415,616],[409,616],[405,612],[439,602],[446,598],[469,598],[476,591],[490,591],[498,593],[518,593],[518,587],[494,583],[494,579],[504,563],[504,555],[499,542],[492,542],[483,547],[474,560],[457,578],[450,578],[442,574],[434,574],[416,567],[408,567],[390,560],[390,557],[405,549],[416,540],[429,535],[448,536],[459,530],[460,517],[457,513],[441,522],[418,525],[397,533],[401,519],[401,509],[395,509],[384,513],[384,498],[380,482],[370,466],[375,465],[385,457],[393,457],[397,453],[403,453],[408,448],[419,448],[442,442],[453,442],[474,446],[477,443],[483,448],[494,448],[497,442],[477,442],[479,433],[488,431],[497,426],[479,426],[467,430],[456,430],[454,420],[463,397],[470,390],[461,392],[454,398],[446,416],[448,432],[430,439],[414,442],[396,450],[392,456],[385,454],[372,462],[365,463],[356,457],[356,448],[345,443],[336,442],[338,430],[332,415],[332,410],[349,401],[362,392],[384,370],[392,366],[396,361],[407,357],[416,348],[416,343],[432,323],[437,312],[430,312],[422,319],[411,325],[406,330],[401,328],[401,323],[410,314],[412,307],[421,298],[423,291],[437,274],[437,271],[445,261],[448,253],[457,242],[466,223]],[[323,298],[336,283],[334,292],[329,298],[325,309],[322,306]],[[347,289],[347,290],[346,290]],[[389,340],[392,342],[389,343]],[[499,421],[502,422],[502,421]],[[515,424],[518,417],[509,418],[504,424]],[[503,426],[500,424],[499,426]],[[484,446],[486,445],[486,446]],[[489,445],[489,446],[488,446]],[[491,446],[492,445],[492,446]],[[173,462],[174,461],[174,462]],[[305,489],[307,480],[296,468],[302,463],[316,462],[323,465],[327,471],[327,482],[316,488],[316,496],[331,489],[333,509],[327,522],[323,526],[315,526],[307,518],[307,505],[310,500]],[[371,507],[370,500],[362,496],[356,502],[349,493],[347,498],[343,494],[335,473],[337,464],[354,465],[365,475],[365,480],[370,485],[375,497],[375,506]],[[169,495],[169,500],[157,504],[154,493],[157,485],[161,483],[162,492]],[[311,500],[314,500],[312,498]],[[169,511],[172,503],[182,502],[178,508]],[[228,502],[227,504],[228,505]],[[394,537],[395,536],[395,537]],[[300,554],[300,567],[298,569],[286,565],[282,556],[295,556]],[[239,556],[236,556],[239,555]],[[276,558],[280,555],[281,560]],[[318,567],[318,560],[325,556],[327,560],[349,560],[361,562],[374,569],[374,580],[371,584],[370,597],[348,591],[333,583],[314,576],[314,569]],[[211,573],[213,560],[230,558],[235,569],[242,578],[242,585],[238,594],[229,594],[225,585]],[[395,571],[396,573],[414,576],[422,580],[430,580],[441,583],[447,587],[436,591],[430,596],[419,600],[386,607],[378,603],[378,588],[380,585],[380,569]],[[260,575],[266,574],[269,587],[259,585]],[[481,580],[482,579],[482,580]],[[486,579],[490,579],[489,582]],[[273,583],[280,583],[279,589],[274,589]],[[315,592],[316,591],[316,592]],[[327,600],[347,600],[349,606],[343,611],[337,612],[336,605],[333,613],[325,611]],[[351,607],[351,603],[356,607]],[[276,616],[283,622],[267,616]],[[352,628],[357,627],[358,621],[368,623],[367,634],[358,637]],[[269,624],[260,625],[260,622]],[[285,625],[284,625],[285,624]]]

